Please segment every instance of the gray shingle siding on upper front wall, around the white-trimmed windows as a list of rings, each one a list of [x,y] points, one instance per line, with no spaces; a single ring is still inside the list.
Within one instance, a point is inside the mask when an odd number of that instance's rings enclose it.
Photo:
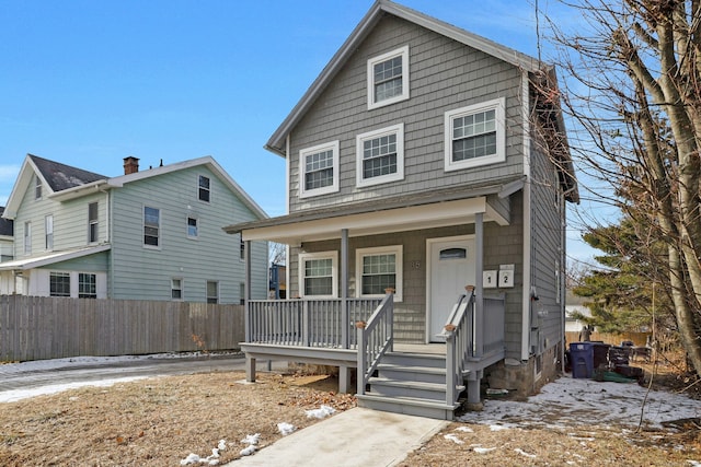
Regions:
[[[410,47],[411,98],[368,110],[367,60],[404,45]],[[290,212],[521,174],[522,126],[514,124],[521,115],[519,86],[517,68],[384,16],[291,133]],[[496,97],[506,97],[507,161],[446,173],[445,112]],[[404,179],[356,187],[356,136],[397,124],[404,124]],[[340,141],[340,191],[299,199],[299,151],[334,140]]]

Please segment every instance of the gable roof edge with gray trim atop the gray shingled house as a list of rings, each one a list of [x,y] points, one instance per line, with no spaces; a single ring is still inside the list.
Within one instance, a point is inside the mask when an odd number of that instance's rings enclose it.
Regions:
[[[375,25],[384,14],[392,14],[415,23],[529,72],[536,72],[543,68],[549,68],[544,67],[536,58],[529,57],[509,47],[445,23],[440,20],[436,20],[435,17],[412,10],[411,8],[394,3],[390,0],[377,0],[363,17],[360,23],[355,27],[355,30],[353,30],[350,36],[348,36],[346,42],[332,57],[331,61],[324,67],[321,74],[314,80],[309,90],[307,90],[302,98],[292,108],[287,118],[277,128],[277,130],[275,130],[273,136],[271,136],[265,144],[265,149],[285,156],[285,139],[287,138],[287,135],[299,122],[314,101],[338,73],[346,61],[358,48],[360,43],[368,36],[368,34],[370,34]]]

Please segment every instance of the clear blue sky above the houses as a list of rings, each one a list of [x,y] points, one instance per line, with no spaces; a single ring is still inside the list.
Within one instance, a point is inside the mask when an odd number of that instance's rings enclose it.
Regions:
[[[0,206],[27,153],[106,176],[127,155],[141,167],[211,155],[285,213],[284,160],[263,145],[371,3],[0,2]],[[531,1],[401,3],[538,55]]]

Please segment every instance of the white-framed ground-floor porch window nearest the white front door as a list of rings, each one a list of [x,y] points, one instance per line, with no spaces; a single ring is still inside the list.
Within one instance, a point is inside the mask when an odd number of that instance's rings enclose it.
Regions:
[[[356,295],[383,296],[394,289],[394,300],[402,300],[402,245],[359,248],[356,250]]]

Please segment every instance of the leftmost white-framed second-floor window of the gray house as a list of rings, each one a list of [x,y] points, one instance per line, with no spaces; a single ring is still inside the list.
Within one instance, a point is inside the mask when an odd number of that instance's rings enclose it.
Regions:
[[[302,177],[299,197],[338,191],[338,141],[299,151]]]

